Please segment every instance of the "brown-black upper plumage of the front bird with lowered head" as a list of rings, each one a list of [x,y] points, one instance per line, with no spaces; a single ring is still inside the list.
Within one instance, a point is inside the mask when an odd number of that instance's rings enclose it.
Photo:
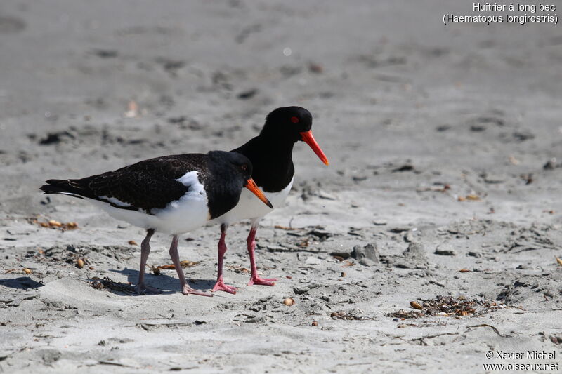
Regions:
[[[103,201],[114,208],[152,214],[153,210],[166,208],[185,195],[192,186],[184,185],[178,179],[185,173],[197,171],[198,182],[204,186],[209,197],[210,217],[216,218],[235,206],[240,195],[238,190],[242,189],[245,180],[242,176],[237,178],[237,171],[222,167],[222,158],[227,152],[209,154],[210,159],[207,154],[162,156],[86,178],[51,179],[41,186],[41,190],[46,194],[72,194]],[[237,159],[233,154],[228,156]],[[247,162],[246,159],[237,161],[240,164]],[[115,203],[112,199],[122,203]]]

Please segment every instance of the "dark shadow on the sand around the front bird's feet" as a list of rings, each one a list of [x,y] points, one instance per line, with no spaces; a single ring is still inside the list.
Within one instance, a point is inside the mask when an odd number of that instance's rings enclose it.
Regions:
[[[125,275],[127,281],[130,283],[117,283],[113,282],[110,286],[105,286],[116,295],[136,295],[136,283],[138,282],[138,270],[125,268],[122,270],[112,270],[112,272]],[[176,274],[174,274],[176,275]],[[195,290],[210,291],[215,284],[215,279],[190,279],[187,277],[188,284]],[[159,293],[146,293],[146,295],[171,295],[174,293],[181,293],[180,281],[177,276],[164,274],[159,275],[145,273],[145,285],[152,288],[157,288]]]

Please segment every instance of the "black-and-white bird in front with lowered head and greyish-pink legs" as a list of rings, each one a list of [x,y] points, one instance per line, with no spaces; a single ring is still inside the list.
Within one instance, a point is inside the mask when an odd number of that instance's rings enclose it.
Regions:
[[[157,157],[82,179],[51,179],[41,190],[46,194],[86,199],[117,220],[147,230],[141,244],[138,293],[158,292],[144,283],[150,238],[158,231],[172,235],[169,253],[182,293],[210,296],[210,293],[191,288],[185,281],[178,255],[178,235],[230,211],[238,203],[244,187],[272,207],[252,180],[251,173],[251,161],[246,156],[211,151]]]

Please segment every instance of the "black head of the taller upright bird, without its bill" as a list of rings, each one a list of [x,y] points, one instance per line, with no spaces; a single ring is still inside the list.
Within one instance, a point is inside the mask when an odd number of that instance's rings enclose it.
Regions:
[[[298,142],[301,133],[311,131],[312,114],[301,107],[277,108],[266,117],[260,135],[284,138]]]

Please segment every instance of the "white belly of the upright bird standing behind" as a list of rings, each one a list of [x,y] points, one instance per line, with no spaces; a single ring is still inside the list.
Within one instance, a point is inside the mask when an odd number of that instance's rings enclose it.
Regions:
[[[287,199],[291,191],[293,180],[294,178],[289,182],[289,185],[280,192],[263,192],[269,199],[271,205],[273,205],[273,208],[279,208],[285,203],[285,199]],[[256,195],[244,188],[242,189],[242,194],[240,194],[240,201],[238,201],[237,206],[210,222],[230,225],[240,220],[261,218],[271,212],[273,212],[273,209],[266,206]]]

